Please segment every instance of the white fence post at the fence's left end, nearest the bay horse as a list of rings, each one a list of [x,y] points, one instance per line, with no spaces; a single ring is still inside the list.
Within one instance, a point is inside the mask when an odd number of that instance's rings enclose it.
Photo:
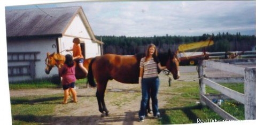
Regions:
[[[201,100],[201,95],[204,95],[206,93],[205,91],[205,84],[203,83],[203,77],[205,76],[205,68],[203,66],[203,60],[198,61],[198,77],[199,77],[199,87],[200,87],[200,103],[203,105],[206,105],[202,100]]]

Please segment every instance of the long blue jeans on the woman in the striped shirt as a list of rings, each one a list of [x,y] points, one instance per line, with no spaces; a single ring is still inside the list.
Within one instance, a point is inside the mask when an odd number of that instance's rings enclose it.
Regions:
[[[141,89],[142,89],[142,99],[141,99],[141,109],[139,110],[138,116],[145,116],[146,104],[148,103],[148,98],[150,94],[148,93],[148,89],[151,89],[152,95],[152,109],[154,116],[157,115],[158,111],[158,88],[159,88],[159,78],[143,78]]]

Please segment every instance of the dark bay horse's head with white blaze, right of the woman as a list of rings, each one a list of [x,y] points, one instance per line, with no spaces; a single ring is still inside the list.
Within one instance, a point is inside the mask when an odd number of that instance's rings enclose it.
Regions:
[[[180,78],[179,63],[180,63],[180,60],[179,60],[179,57],[177,56],[177,53],[170,52],[170,49],[169,49],[166,68],[173,74],[174,79]]]

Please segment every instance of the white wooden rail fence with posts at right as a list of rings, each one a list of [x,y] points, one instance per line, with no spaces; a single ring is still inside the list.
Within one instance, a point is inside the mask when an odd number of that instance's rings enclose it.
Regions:
[[[241,66],[256,65],[256,59],[226,59],[226,60],[204,60],[199,61],[199,86],[200,86],[200,102],[209,106],[213,111],[218,113],[222,118],[236,120],[236,118],[226,111],[222,110],[218,105],[213,103],[206,95],[205,85],[220,91],[224,96],[235,99],[237,102],[244,104],[245,119],[256,119],[256,67]],[[222,71],[242,74],[243,78],[214,78],[210,79],[205,76],[205,68],[214,68]],[[244,94],[238,93],[235,90],[221,86],[216,82],[241,82],[244,81]],[[219,97],[223,95],[218,95]],[[212,95],[213,96],[213,95]]]

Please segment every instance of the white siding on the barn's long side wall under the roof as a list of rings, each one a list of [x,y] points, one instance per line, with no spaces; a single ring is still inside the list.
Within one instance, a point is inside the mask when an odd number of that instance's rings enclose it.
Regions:
[[[33,39],[17,39],[9,40],[7,42],[7,52],[40,52],[37,54],[37,59],[40,61],[35,62],[35,78],[45,78],[58,74],[57,68],[52,68],[50,74],[46,74],[44,69],[46,53],[57,52],[56,38],[33,38]],[[8,66],[26,65],[29,62],[8,62]],[[32,80],[30,76],[22,77],[9,77],[9,81]]]

